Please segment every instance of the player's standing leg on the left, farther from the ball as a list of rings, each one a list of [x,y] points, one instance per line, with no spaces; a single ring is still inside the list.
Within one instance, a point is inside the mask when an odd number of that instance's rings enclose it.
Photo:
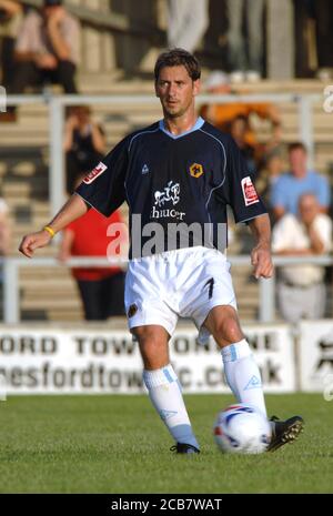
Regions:
[[[137,326],[131,331],[139,341],[144,367],[143,381],[150,399],[174,438],[176,452],[198,453],[199,444],[191,427],[181,385],[170,364],[169,333],[158,324]]]

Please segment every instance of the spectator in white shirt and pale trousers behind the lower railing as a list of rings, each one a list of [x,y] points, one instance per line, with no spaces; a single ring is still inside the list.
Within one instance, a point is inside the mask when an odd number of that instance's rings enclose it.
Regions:
[[[299,215],[284,215],[273,229],[273,252],[281,256],[309,256],[330,252],[332,221],[321,213],[315,195],[304,193],[299,200]],[[287,322],[320,318],[325,312],[325,270],[321,265],[287,265],[280,270],[278,300]]]

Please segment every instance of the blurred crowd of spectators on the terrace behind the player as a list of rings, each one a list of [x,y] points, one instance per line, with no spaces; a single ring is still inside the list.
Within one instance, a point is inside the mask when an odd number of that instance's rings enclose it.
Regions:
[[[316,77],[333,79],[333,2],[294,0],[296,74],[309,77],[302,34],[309,19],[316,28]],[[254,82],[265,75],[264,0],[224,0],[228,19],[228,62],[208,75],[208,93],[228,94],[234,83]],[[209,0],[167,0],[168,44],[195,52],[209,20]],[[80,23],[61,0],[43,0],[37,9],[22,2],[0,0],[1,83],[9,93],[57,83],[64,93],[77,93],[75,72],[79,61]],[[305,64],[304,64],[305,63]],[[255,176],[273,222],[273,251],[279,255],[324,254],[331,251],[332,222],[326,178],[307,169],[307,150],[302,142],[283,145],[281,113],[268,102],[213,104],[201,107],[200,114],[236,141]],[[270,123],[270,138],[263,144],[252,124],[253,115]],[[17,120],[14,107],[0,113],[0,121]],[[107,151],[104,130],[93,121],[88,107],[75,107],[67,113],[63,151],[67,164],[67,191],[72,193],[82,174],[88,173]],[[8,209],[0,200],[0,253],[9,249]],[[92,211],[91,211],[92,212]],[[82,224],[72,224],[63,235],[60,259],[70,255],[103,254],[105,224],[88,214],[85,225],[94,225],[94,239],[84,239]],[[117,220],[120,213],[115,213]],[[91,217],[91,220],[88,220]],[[84,232],[83,232],[84,233]],[[78,242],[84,245],[78,245]],[[121,299],[123,273],[118,269],[74,270],[87,320],[102,320],[123,313]],[[316,318],[325,312],[325,270],[320,265],[281,267],[278,294],[282,316],[296,322]],[[107,292],[113,291],[113,300]],[[99,302],[102,300],[102,303]]]

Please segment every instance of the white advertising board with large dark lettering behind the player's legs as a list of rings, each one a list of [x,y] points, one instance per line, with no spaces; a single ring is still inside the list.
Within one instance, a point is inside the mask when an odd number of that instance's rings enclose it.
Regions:
[[[262,372],[265,392],[295,388],[293,343],[286,325],[243,328]],[[196,343],[194,327],[179,330],[171,363],[184,393],[230,392],[222,357],[211,340]],[[142,363],[127,331],[0,326],[0,378],[8,394],[140,393]]]

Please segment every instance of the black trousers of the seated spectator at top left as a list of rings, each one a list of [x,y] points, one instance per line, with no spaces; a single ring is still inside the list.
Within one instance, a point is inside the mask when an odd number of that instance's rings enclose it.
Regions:
[[[71,61],[59,61],[54,70],[38,68],[33,61],[17,62],[11,93],[23,93],[28,85],[41,85],[46,82],[61,84],[65,93],[77,93],[75,68]]]

